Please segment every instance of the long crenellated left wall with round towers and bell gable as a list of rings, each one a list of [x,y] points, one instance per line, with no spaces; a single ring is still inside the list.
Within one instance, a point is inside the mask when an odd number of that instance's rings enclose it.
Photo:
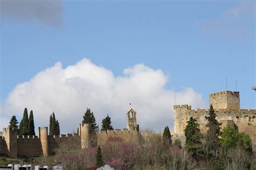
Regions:
[[[91,134],[88,124],[79,124],[78,134],[48,135],[48,128],[38,128],[38,136],[17,136],[15,129],[4,128],[3,137],[0,137],[0,154],[6,154],[11,158],[18,155],[28,157],[49,156],[54,154],[60,146],[69,150],[89,146],[90,139],[95,140],[96,145],[104,145],[109,137],[120,137],[123,141],[140,140],[139,125],[136,121],[136,112],[130,109],[127,115],[127,129],[99,131]],[[135,128],[134,128],[135,127]]]

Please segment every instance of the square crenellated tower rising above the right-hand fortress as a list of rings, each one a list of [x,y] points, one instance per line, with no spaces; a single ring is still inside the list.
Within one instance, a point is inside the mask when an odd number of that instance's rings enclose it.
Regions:
[[[213,109],[240,109],[239,91],[221,91],[210,94]]]

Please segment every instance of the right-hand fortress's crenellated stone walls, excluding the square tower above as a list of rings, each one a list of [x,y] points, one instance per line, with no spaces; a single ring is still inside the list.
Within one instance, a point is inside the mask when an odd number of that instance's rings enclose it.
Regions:
[[[202,132],[206,132],[208,111],[205,109],[191,110],[188,105],[174,105],[174,129],[176,135],[184,135],[187,121],[190,117],[196,118],[199,128]],[[224,124],[232,124],[239,132],[248,133],[253,140],[256,141],[256,110],[245,109],[218,109],[214,110],[219,122]]]

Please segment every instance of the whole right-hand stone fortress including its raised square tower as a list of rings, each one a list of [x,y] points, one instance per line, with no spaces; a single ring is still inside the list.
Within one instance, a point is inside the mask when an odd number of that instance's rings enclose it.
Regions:
[[[239,132],[248,133],[252,139],[252,146],[256,148],[256,110],[240,109],[240,97],[238,91],[222,91],[210,94],[216,119],[222,123],[223,128],[227,124],[232,125]],[[206,124],[209,110],[192,110],[191,105],[174,105],[174,138],[184,140],[184,130],[190,117],[196,118],[201,132],[207,131]]]

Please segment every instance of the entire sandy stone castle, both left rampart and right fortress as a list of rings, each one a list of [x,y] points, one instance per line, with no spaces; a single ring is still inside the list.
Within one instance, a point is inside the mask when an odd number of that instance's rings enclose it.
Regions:
[[[210,94],[210,104],[217,115],[217,120],[222,123],[221,127],[227,124],[232,125],[240,132],[248,133],[252,139],[252,146],[256,148],[256,110],[240,109],[240,96],[238,91],[223,91]],[[17,158],[18,155],[28,157],[48,156],[54,154],[56,149],[64,146],[69,150],[89,146],[91,139],[93,145],[104,145],[110,137],[119,137],[124,142],[133,141],[144,143],[139,132],[136,111],[130,109],[126,112],[126,129],[116,129],[90,133],[88,124],[79,124],[78,134],[48,135],[48,128],[38,128],[38,136],[17,136],[15,129],[4,128],[3,137],[0,137],[0,154],[7,154],[9,157]],[[173,140],[185,141],[184,130],[190,117],[196,118],[199,128],[206,132],[206,116],[208,110],[192,110],[188,105],[174,105],[174,133]]]

